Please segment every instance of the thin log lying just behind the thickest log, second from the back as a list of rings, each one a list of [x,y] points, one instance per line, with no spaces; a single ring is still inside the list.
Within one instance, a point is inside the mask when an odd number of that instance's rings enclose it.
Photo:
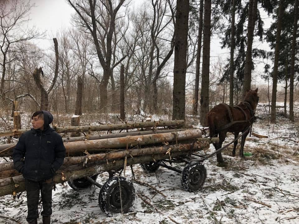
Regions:
[[[81,137],[67,137],[62,138],[63,142],[78,142],[78,141],[85,141],[85,140],[96,140],[96,139],[105,139],[105,138],[120,138],[125,136],[132,136],[132,135],[145,135],[145,134],[159,134],[159,133],[168,133],[168,132],[176,132],[176,131],[185,131],[187,129],[164,129],[159,130],[156,129],[154,131],[137,131],[137,132],[122,132],[122,133],[112,133],[112,134],[100,134],[100,135],[86,135]],[[2,150],[10,150],[7,152],[7,156],[12,155],[12,150],[16,146],[17,143],[10,143],[10,144],[0,144],[0,157],[2,155]]]

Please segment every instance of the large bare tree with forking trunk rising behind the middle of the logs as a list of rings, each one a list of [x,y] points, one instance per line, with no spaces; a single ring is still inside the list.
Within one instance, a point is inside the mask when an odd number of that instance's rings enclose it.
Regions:
[[[117,20],[116,15],[124,1],[120,0],[115,3],[112,0],[99,2],[96,0],[68,0],[80,17],[81,24],[92,35],[97,57],[103,69],[103,76],[100,81],[100,108],[106,108],[107,105],[107,85],[113,68],[126,57],[125,55],[112,64],[112,38],[115,31],[115,21]],[[99,39],[105,41],[99,42]]]

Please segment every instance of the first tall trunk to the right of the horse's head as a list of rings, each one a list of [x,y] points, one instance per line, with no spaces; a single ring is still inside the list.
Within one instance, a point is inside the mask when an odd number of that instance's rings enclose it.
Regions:
[[[275,56],[274,56],[274,68],[273,68],[273,87],[272,87],[272,101],[271,101],[271,123],[276,122],[276,92],[277,92],[277,74],[278,74],[278,60],[279,60],[279,42],[282,27],[282,14],[283,6],[282,0],[279,1],[278,18],[277,18],[277,31],[276,31],[276,44],[275,44]]]

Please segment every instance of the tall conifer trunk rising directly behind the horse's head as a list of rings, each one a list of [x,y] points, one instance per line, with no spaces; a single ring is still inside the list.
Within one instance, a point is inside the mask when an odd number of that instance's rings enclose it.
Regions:
[[[244,79],[243,79],[243,97],[251,88],[251,70],[252,70],[252,43],[254,37],[254,27],[257,14],[257,0],[249,0],[248,7],[248,30],[247,30],[247,50],[245,58]]]

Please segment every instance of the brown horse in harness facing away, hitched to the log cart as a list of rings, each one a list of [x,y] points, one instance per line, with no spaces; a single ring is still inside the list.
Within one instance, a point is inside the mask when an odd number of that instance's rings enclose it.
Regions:
[[[248,127],[254,122],[254,113],[258,102],[257,88],[256,90],[247,91],[244,100],[235,107],[219,104],[210,110],[206,115],[206,119],[209,125],[210,137],[217,137],[219,135],[219,143],[213,144],[216,150],[222,147],[222,142],[225,140],[227,132],[234,133],[236,139],[240,132],[246,131],[242,136],[240,147],[240,157],[244,157],[244,143],[250,130]],[[233,156],[235,156],[237,144],[238,141],[235,141]],[[217,153],[217,161],[220,163],[223,162],[221,152]]]

